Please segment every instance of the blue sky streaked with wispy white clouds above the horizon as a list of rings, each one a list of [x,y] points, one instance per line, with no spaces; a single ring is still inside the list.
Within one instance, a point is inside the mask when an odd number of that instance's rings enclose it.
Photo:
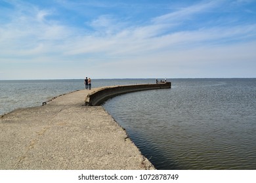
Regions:
[[[256,77],[256,1],[0,0],[0,80]]]

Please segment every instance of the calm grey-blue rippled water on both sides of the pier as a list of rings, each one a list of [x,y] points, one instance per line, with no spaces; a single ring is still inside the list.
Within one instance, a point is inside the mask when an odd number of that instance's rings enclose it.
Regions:
[[[256,169],[256,79],[171,79],[104,108],[157,169]],[[93,87],[155,79],[93,80]],[[83,80],[0,81],[0,115],[82,90]]]

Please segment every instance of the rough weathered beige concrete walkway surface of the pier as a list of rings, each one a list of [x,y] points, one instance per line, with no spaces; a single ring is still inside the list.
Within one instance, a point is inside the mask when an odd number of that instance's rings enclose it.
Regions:
[[[1,116],[0,169],[154,169],[103,107],[82,106],[95,90]]]

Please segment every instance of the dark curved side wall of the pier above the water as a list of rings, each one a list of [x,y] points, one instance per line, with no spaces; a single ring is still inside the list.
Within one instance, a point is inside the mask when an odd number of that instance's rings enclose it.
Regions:
[[[87,106],[98,106],[104,103],[104,101],[121,95],[124,93],[139,92],[143,90],[156,90],[171,88],[171,82],[165,82],[160,84],[135,84],[127,86],[112,86],[102,88],[96,92],[90,93],[85,99],[85,105]]]

